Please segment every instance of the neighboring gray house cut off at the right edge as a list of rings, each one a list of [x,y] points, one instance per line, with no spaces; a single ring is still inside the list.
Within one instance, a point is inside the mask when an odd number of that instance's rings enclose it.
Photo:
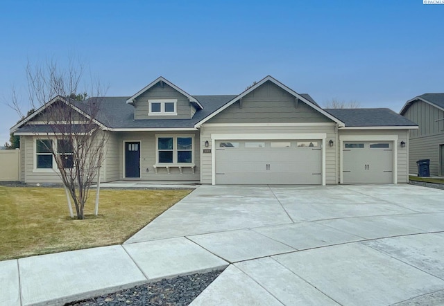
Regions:
[[[410,131],[410,173],[417,173],[416,161],[429,159],[430,175],[444,176],[444,93],[408,100],[400,114],[419,126]]]

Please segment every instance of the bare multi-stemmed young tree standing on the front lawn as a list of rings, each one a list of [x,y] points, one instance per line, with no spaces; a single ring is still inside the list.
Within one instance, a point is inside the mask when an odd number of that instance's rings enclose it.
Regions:
[[[76,207],[77,219],[85,219],[85,203],[93,183],[97,183],[96,209],[98,214],[100,169],[105,156],[104,148],[108,139],[104,126],[97,120],[101,115],[99,84],[89,82],[87,93],[81,86],[83,66],[73,65],[59,69],[56,62],[44,66],[28,63],[29,103],[37,109],[31,125],[37,138],[37,165],[53,168],[56,161],[58,175],[65,186],[71,217],[71,199]],[[13,93],[13,107],[21,109],[17,95]],[[79,101],[87,96],[92,97]]]

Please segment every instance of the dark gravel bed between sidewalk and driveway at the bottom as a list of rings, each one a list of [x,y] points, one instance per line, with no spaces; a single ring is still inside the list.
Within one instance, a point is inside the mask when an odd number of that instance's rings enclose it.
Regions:
[[[99,305],[189,305],[223,270],[196,273],[189,276],[163,279],[96,298],[67,303],[71,306]]]

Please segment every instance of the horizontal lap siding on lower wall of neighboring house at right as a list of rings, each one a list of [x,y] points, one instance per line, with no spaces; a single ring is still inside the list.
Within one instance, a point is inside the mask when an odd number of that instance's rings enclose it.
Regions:
[[[430,159],[430,175],[444,175],[440,173],[439,145],[444,145],[444,133],[410,139],[409,168],[411,174],[418,174],[416,161]]]

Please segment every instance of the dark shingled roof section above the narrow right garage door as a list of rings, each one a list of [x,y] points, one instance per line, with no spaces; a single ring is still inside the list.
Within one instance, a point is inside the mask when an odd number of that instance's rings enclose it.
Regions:
[[[418,127],[409,119],[387,108],[377,109],[325,109],[341,119],[347,127]]]

